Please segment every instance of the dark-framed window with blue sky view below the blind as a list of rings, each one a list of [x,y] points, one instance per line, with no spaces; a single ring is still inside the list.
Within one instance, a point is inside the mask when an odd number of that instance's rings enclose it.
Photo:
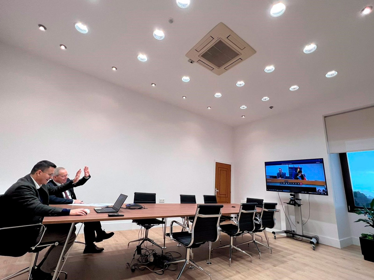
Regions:
[[[340,153],[348,211],[369,206],[374,198],[374,150]]]

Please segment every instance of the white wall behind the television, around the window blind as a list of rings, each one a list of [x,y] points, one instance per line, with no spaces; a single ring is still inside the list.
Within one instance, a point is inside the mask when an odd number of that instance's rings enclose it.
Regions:
[[[360,94],[357,99],[352,95],[352,99],[331,100],[237,127],[234,131],[234,201],[261,197],[267,202],[281,204],[278,193],[266,192],[264,162],[324,158],[329,195],[310,196],[310,219],[304,225],[304,233],[318,235],[321,243],[335,247],[356,243],[352,236],[356,238],[367,230],[362,223],[352,223],[358,216],[347,212],[340,162],[338,155],[328,154],[323,116],[374,102],[373,92]],[[301,124],[300,128],[297,123]],[[282,202],[288,201],[287,194],[280,196]],[[301,194],[300,197],[303,220],[306,221],[308,195]],[[285,228],[288,222],[280,205],[278,208],[281,209],[282,228]],[[292,209],[290,215],[293,215]]]

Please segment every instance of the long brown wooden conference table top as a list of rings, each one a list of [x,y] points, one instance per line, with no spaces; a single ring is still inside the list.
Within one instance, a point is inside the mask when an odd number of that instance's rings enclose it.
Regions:
[[[55,207],[64,207],[68,209],[85,208],[90,209],[90,213],[85,216],[56,216],[45,217],[43,224],[62,224],[62,223],[80,223],[80,222],[95,222],[95,221],[113,221],[113,220],[134,220],[134,219],[148,219],[148,218],[170,218],[170,217],[185,217],[194,216],[196,213],[197,204],[185,203],[156,203],[144,204],[146,209],[123,209],[118,213],[124,214],[122,217],[108,217],[108,213],[96,213],[94,207],[77,205],[51,205]],[[233,207],[234,206],[234,207]],[[125,207],[125,206],[123,206]],[[240,204],[227,203],[223,204],[222,215],[230,215],[239,213]],[[257,208],[261,211],[261,208]]]

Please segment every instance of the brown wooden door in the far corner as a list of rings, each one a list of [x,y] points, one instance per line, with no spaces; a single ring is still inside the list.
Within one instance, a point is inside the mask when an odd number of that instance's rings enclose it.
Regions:
[[[231,203],[231,165],[215,163],[215,195],[217,203]]]

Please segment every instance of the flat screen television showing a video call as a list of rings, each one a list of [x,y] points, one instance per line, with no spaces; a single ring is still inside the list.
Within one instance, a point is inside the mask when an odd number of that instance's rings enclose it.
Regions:
[[[328,195],[322,158],[265,162],[265,174],[269,192]]]

